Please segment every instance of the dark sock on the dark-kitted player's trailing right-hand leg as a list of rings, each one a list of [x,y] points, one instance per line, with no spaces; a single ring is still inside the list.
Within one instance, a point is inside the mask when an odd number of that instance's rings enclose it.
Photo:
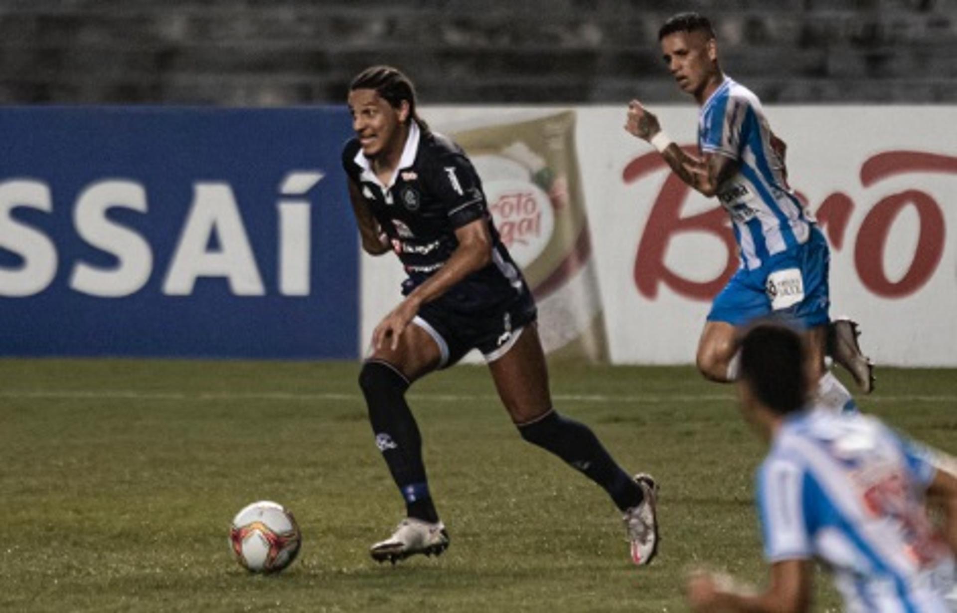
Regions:
[[[525,441],[551,451],[604,488],[621,511],[641,503],[641,488],[612,460],[584,423],[551,411],[539,420],[518,427]]]

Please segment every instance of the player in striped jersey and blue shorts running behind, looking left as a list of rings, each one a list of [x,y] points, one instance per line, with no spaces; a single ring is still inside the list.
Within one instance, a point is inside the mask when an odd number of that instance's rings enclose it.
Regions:
[[[636,100],[625,129],[655,146],[672,170],[705,196],[717,196],[733,221],[741,268],[715,298],[701,332],[701,374],[729,382],[737,376],[737,335],[769,314],[806,329],[812,343],[811,374],[822,403],[853,410],[854,399],[825,365],[830,352],[854,375],[865,394],[872,366],[857,346],[857,324],[830,324],[827,241],[790,189],[785,145],[768,125],[761,102],[726,77],[718,63],[711,23],[698,13],[668,19],[658,32],[661,53],[682,91],[701,106],[699,155],[675,145],[657,117]]]

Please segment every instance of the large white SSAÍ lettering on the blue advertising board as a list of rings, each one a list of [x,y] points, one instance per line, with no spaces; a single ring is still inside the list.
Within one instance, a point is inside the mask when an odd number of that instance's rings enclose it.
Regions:
[[[279,185],[277,289],[283,296],[308,296],[310,287],[312,201],[303,197],[323,180],[322,170],[290,171]],[[157,250],[136,227],[110,213],[127,210],[147,216],[146,186],[133,179],[102,179],[85,186],[74,204],[75,230],[91,247],[110,254],[116,265],[103,267],[78,260],[68,276],[71,290],[99,298],[122,298],[146,286],[155,268],[165,265],[160,291],[189,296],[198,280],[225,279],[235,296],[265,296],[266,279],[256,260],[233,186],[226,181],[192,184],[188,213],[168,261],[157,261]],[[0,265],[0,296],[23,298],[46,291],[63,264],[63,254],[41,229],[21,223],[14,209],[52,213],[51,186],[34,179],[0,182],[0,251],[22,260],[16,267]],[[211,238],[218,243],[211,247]]]

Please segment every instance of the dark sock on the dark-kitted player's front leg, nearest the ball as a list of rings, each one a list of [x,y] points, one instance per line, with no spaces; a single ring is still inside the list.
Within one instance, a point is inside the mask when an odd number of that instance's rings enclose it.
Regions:
[[[422,463],[422,437],[406,403],[409,381],[385,362],[368,361],[359,374],[375,444],[406,501],[410,517],[437,522]]]

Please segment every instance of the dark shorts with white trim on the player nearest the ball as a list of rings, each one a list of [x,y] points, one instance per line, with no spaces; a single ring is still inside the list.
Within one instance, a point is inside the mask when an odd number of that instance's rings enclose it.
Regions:
[[[478,349],[486,362],[494,362],[537,317],[535,299],[524,287],[511,300],[481,310],[463,310],[453,300],[439,296],[419,308],[412,324],[432,336],[442,354],[438,368],[447,368],[473,349]]]

